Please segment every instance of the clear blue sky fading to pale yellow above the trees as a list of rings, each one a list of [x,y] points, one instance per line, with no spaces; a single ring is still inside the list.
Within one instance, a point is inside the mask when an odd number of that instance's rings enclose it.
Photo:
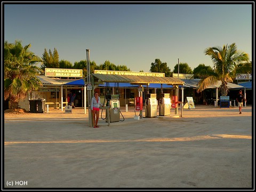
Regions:
[[[2,2],[3,4],[3,2]],[[252,60],[254,4],[4,4],[4,41],[31,44],[59,60],[109,60],[148,72],[155,59],[173,71],[178,63],[193,70],[213,67],[207,47],[236,43]],[[3,9],[4,8],[4,9]]]

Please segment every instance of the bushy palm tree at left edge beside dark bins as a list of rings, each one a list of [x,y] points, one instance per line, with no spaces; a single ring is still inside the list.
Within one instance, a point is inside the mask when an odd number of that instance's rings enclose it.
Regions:
[[[10,108],[18,108],[20,99],[25,99],[30,91],[42,86],[36,75],[41,71],[34,65],[37,58],[21,41],[4,43],[4,99],[10,100]],[[32,60],[32,62],[31,62]]]

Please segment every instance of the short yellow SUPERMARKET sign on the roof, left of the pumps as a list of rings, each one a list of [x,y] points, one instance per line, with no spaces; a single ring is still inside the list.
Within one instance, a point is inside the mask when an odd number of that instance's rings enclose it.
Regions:
[[[45,68],[46,77],[83,77],[83,69]]]

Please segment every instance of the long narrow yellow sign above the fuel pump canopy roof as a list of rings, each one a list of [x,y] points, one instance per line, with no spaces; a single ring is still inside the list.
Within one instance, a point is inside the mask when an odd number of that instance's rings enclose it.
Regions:
[[[164,73],[146,73],[146,72],[137,72],[137,71],[94,70],[94,74],[137,75],[137,76],[147,76],[147,77],[164,77]]]

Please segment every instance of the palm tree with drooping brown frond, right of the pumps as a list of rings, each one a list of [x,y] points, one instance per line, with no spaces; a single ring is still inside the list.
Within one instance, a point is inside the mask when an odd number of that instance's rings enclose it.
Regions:
[[[209,47],[205,50],[205,55],[210,55],[214,65],[214,73],[198,83],[197,93],[202,92],[207,86],[214,85],[221,81],[220,94],[228,94],[228,82],[233,82],[236,75],[237,66],[243,61],[249,61],[249,55],[238,51],[236,44],[223,45],[223,47]]]

